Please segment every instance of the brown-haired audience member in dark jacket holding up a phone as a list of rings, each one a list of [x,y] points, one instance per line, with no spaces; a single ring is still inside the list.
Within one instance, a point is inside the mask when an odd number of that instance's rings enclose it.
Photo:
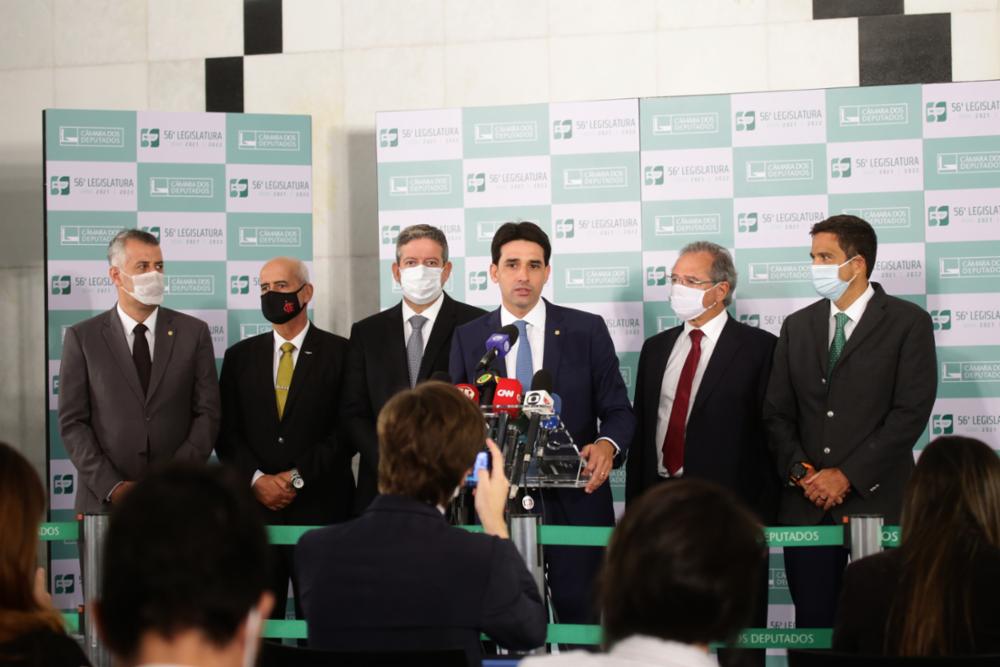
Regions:
[[[492,442],[492,471],[478,472],[475,497],[486,534],[445,519],[484,430],[479,408],[442,382],[386,403],[378,418],[382,495],[360,518],[306,533],[296,547],[311,648],[462,648],[479,665],[480,633],[509,649],[545,641],[545,607],[508,539],[509,484]]]

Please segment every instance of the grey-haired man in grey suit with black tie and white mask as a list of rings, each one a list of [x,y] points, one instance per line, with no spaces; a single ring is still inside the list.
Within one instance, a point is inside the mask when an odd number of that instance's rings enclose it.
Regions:
[[[59,433],[84,514],[109,512],[153,464],[206,461],[219,432],[208,325],[160,306],[159,240],[124,230],[108,263],[118,303],[66,330],[60,367]]]

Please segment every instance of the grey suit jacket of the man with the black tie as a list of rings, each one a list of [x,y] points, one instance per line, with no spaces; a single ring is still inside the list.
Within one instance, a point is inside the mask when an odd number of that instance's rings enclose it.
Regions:
[[[212,452],[221,409],[208,326],[161,307],[154,338],[143,395],[116,308],[66,330],[59,433],[79,472],[77,512],[109,511],[115,485],[153,464]]]

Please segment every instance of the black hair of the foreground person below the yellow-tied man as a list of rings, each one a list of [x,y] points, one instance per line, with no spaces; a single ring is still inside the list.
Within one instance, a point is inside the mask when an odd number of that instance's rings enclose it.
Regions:
[[[270,573],[250,485],[218,466],[171,464],[140,481],[111,514],[101,634],[124,659],[149,632],[171,639],[198,630],[224,646]]]

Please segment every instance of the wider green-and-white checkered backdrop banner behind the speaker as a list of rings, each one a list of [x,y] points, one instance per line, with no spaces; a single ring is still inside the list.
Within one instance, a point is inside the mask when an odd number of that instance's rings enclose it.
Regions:
[[[449,293],[494,308],[493,232],[537,222],[553,246],[544,296],[604,317],[630,393],[643,340],[678,324],[682,246],[729,248],[731,314],[777,334],[817,298],[809,228],[860,216],[879,237],[873,280],[934,321],[938,400],[917,449],[950,434],[1000,449],[1000,82],[381,113],[377,142],[383,308],[401,296],[403,227],[442,228]],[[773,554],[775,626],[791,623],[781,565]]]

